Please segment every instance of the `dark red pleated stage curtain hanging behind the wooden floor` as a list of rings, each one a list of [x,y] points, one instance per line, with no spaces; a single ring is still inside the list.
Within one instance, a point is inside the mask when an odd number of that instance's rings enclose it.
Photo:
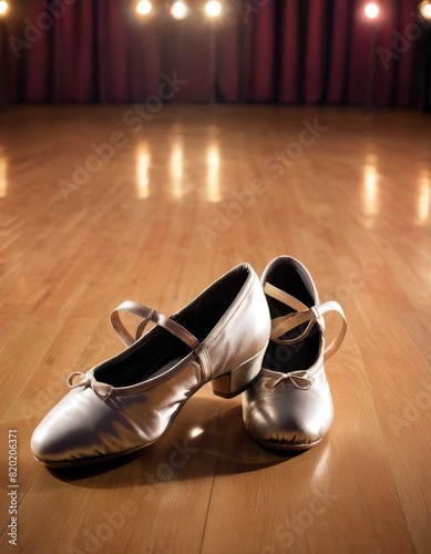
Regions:
[[[431,30],[418,0],[380,0],[374,31],[360,0],[225,0],[214,22],[204,1],[191,0],[183,21],[166,12],[144,21],[135,3],[10,0],[8,102],[365,104],[373,61],[377,105],[421,105]]]

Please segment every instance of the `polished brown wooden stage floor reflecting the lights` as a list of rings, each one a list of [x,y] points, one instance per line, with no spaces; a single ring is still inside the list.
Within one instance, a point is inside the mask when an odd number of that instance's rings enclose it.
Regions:
[[[1,552],[429,553],[430,116],[130,110],[0,114]],[[261,450],[240,398],[206,386],[121,466],[53,474],[33,460],[31,433],[68,375],[121,349],[109,315],[122,300],[172,314],[234,265],[260,274],[280,254],[348,318],[319,445]]]

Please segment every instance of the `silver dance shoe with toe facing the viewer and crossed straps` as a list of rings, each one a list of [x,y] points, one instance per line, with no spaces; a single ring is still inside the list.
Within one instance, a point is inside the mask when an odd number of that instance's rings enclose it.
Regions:
[[[306,450],[317,444],[333,420],[324,362],[340,347],[347,324],[336,301],[320,304],[305,266],[280,256],[264,271],[261,285],[271,315],[263,368],[243,397],[246,428],[257,443],[274,450]],[[325,315],[340,316],[326,345]]]

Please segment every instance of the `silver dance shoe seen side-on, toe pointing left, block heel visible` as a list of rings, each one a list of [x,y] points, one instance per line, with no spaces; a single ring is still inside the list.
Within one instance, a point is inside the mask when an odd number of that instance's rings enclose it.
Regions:
[[[121,321],[123,311],[141,320],[134,336]],[[209,381],[217,396],[240,393],[260,370],[270,332],[268,305],[248,264],[171,317],[125,301],[111,322],[126,349],[69,376],[71,390],[31,439],[33,455],[45,465],[85,465],[151,444]],[[154,327],[143,335],[148,322]]]

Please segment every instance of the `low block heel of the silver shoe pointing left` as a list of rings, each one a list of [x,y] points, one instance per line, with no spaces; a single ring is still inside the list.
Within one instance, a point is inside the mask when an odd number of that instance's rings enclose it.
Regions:
[[[228,373],[224,373],[212,381],[216,397],[233,398],[244,392],[248,384],[257,377],[261,368],[266,347],[256,356],[237,366]]]

